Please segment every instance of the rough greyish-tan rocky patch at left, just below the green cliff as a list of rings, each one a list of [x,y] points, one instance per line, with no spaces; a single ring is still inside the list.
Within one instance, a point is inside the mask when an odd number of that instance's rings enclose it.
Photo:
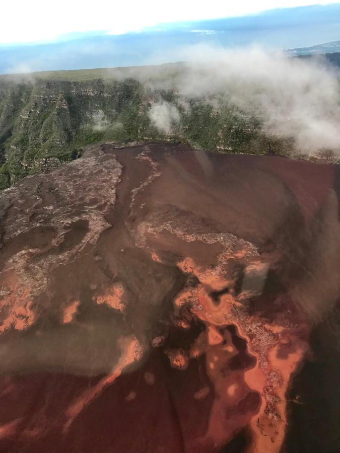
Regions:
[[[8,206],[2,219],[0,292],[13,269],[16,280],[15,289],[9,288],[13,295],[0,302],[4,306],[10,299],[13,306],[8,319],[1,320],[2,330],[10,326],[22,330],[36,319],[19,290],[31,300],[43,295],[55,270],[76,260],[110,228],[106,215],[115,204],[121,171],[114,155],[107,159],[97,149],[53,170],[53,175],[33,177],[25,190],[18,185],[0,194],[0,204]],[[25,313],[21,311],[17,317],[19,305],[25,307]],[[59,307],[55,313],[60,316]]]

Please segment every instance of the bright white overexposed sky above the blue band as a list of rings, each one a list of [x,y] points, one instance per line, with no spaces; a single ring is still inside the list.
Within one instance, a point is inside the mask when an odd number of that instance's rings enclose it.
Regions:
[[[58,41],[65,35],[95,31],[120,35],[171,22],[332,3],[339,0],[14,0],[1,6],[0,45]]]

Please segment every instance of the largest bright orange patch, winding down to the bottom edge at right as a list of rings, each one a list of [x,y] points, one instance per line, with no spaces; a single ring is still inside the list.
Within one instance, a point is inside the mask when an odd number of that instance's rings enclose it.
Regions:
[[[209,428],[202,439],[213,439],[222,445],[232,438],[235,430],[250,426],[253,436],[249,453],[279,453],[287,426],[286,392],[308,347],[304,340],[293,335],[294,326],[287,328],[280,324],[280,319],[268,323],[261,316],[248,314],[241,300],[261,293],[268,265],[254,257],[245,264],[245,290],[241,291],[240,297],[227,292],[217,301],[212,298],[212,291],[232,286],[226,278],[228,261],[209,268],[197,265],[190,257],[184,258],[178,267],[184,273],[195,275],[199,283],[178,294],[174,307],[179,310],[185,305],[206,325],[205,335],[200,335],[190,350],[190,358],[206,353],[206,369],[214,385],[215,400]],[[246,289],[248,281],[253,283],[249,291]],[[230,333],[225,331],[228,325],[236,327],[237,335],[247,343],[247,354],[256,359],[249,369],[228,370],[229,360],[239,353]],[[281,343],[289,344],[290,340],[285,338],[292,335],[294,350],[288,357],[278,358]],[[225,413],[230,413],[230,417],[221,416]]]

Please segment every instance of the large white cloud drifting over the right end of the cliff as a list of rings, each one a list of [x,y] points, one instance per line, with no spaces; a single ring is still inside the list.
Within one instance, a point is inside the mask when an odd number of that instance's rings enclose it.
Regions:
[[[340,81],[325,62],[258,47],[226,50],[209,45],[180,48],[168,57],[187,63],[164,88],[185,98],[206,98],[213,105],[217,99],[234,104],[246,115],[261,118],[265,133],[294,138],[302,152],[340,149]],[[168,107],[154,109],[155,122],[163,121],[157,119],[162,110]]]

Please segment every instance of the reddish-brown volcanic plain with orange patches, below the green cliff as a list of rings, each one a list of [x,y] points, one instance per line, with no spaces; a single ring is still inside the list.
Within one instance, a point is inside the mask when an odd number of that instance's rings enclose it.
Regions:
[[[336,171],[102,145],[3,192],[2,450],[279,452],[339,294]]]

